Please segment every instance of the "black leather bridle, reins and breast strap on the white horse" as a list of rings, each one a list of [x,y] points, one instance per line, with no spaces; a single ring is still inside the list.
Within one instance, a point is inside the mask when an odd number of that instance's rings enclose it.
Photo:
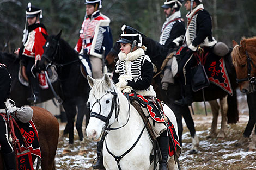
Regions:
[[[104,141],[105,137],[107,136],[107,134],[109,133],[110,130],[117,130],[117,129],[120,129],[120,128],[124,127],[124,126],[129,122],[129,119],[130,119],[130,102],[129,102],[129,100],[128,100],[128,103],[129,103],[129,109],[128,109],[129,117],[127,118],[127,122],[126,122],[124,125],[121,125],[121,127],[118,127],[118,128],[111,128],[111,127],[110,127],[111,125],[108,125],[108,124],[109,124],[109,119],[112,117],[114,108],[115,108],[115,119],[117,119],[117,121],[118,121],[118,115],[119,115],[119,111],[120,111],[120,106],[119,106],[119,104],[118,104],[118,110],[117,110],[117,103],[116,103],[116,100],[118,99],[118,97],[117,97],[117,93],[115,92],[115,90],[114,90],[114,92],[109,92],[109,91],[107,91],[105,95],[107,95],[107,94],[112,94],[112,95],[114,96],[113,99],[112,99],[112,103],[111,103],[111,110],[110,110],[108,116],[106,117],[106,116],[100,115],[100,114],[98,114],[98,113],[96,113],[96,112],[90,112],[90,116],[91,116],[91,117],[96,117],[96,118],[98,118],[98,119],[100,119],[101,121],[103,121],[103,122],[106,123],[105,128],[103,129],[103,131],[105,131],[105,132],[103,133],[103,135],[102,135],[102,137],[101,137],[101,140],[100,140],[101,142]],[[92,105],[92,108],[93,108],[93,106],[94,106],[96,103],[99,103],[99,105],[100,105],[100,112],[101,112],[100,100],[101,100],[105,95],[101,96],[99,99],[97,99],[97,98],[94,96],[94,97],[96,98],[96,102]],[[127,97],[127,96],[126,96],[126,97]],[[119,103],[119,99],[118,99],[118,103]],[[91,108],[91,111],[92,111],[92,108]],[[111,156],[113,156],[113,158],[114,158],[115,161],[117,162],[117,165],[118,165],[118,169],[119,169],[119,170],[121,170],[121,167],[120,167],[120,163],[119,163],[119,162],[121,161],[121,159],[122,159],[126,154],[128,154],[128,153],[136,146],[136,144],[138,143],[139,139],[141,138],[141,136],[142,136],[142,134],[143,134],[143,131],[144,131],[145,127],[146,127],[146,124],[147,124],[147,123],[145,123],[144,128],[142,129],[142,131],[141,131],[141,133],[139,134],[139,137],[137,138],[137,140],[135,141],[135,143],[133,143],[133,145],[131,146],[131,148],[128,149],[128,150],[127,150],[124,154],[122,154],[121,156],[115,156],[115,155],[108,149],[108,147],[107,147],[107,142],[106,142],[106,140],[105,140],[105,145],[106,145],[107,152],[108,152]]]

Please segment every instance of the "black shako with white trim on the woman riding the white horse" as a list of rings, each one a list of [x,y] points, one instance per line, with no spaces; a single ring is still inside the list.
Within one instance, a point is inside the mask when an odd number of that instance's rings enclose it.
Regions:
[[[118,40],[118,43],[130,43],[136,47],[141,47],[143,45],[143,39],[146,37],[144,34],[138,32],[136,29],[123,25],[121,30],[121,39]]]

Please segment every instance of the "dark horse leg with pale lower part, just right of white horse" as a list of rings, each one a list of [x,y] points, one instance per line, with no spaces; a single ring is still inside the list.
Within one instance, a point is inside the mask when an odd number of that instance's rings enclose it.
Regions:
[[[187,124],[188,130],[190,130],[190,135],[191,135],[191,140],[192,140],[192,145],[190,148],[190,154],[196,154],[198,151],[198,146],[199,146],[199,138],[196,134],[196,129],[194,128],[194,121],[190,113],[190,109],[188,106],[186,106],[183,110],[183,118],[185,123]]]

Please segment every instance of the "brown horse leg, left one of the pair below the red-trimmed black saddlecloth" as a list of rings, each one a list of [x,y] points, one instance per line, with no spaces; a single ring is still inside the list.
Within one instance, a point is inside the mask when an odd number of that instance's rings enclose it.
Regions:
[[[218,105],[217,100],[209,101],[212,111],[212,123],[210,133],[206,136],[207,138],[215,138],[216,137],[216,128],[218,123],[218,110],[220,106]]]

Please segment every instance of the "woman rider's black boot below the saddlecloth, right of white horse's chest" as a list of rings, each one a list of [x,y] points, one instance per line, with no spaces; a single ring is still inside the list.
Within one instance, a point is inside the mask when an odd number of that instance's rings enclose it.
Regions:
[[[168,152],[169,152],[169,143],[168,137],[159,136],[157,137],[157,141],[159,143],[162,160],[159,161],[159,170],[167,170],[167,161],[168,161]]]

